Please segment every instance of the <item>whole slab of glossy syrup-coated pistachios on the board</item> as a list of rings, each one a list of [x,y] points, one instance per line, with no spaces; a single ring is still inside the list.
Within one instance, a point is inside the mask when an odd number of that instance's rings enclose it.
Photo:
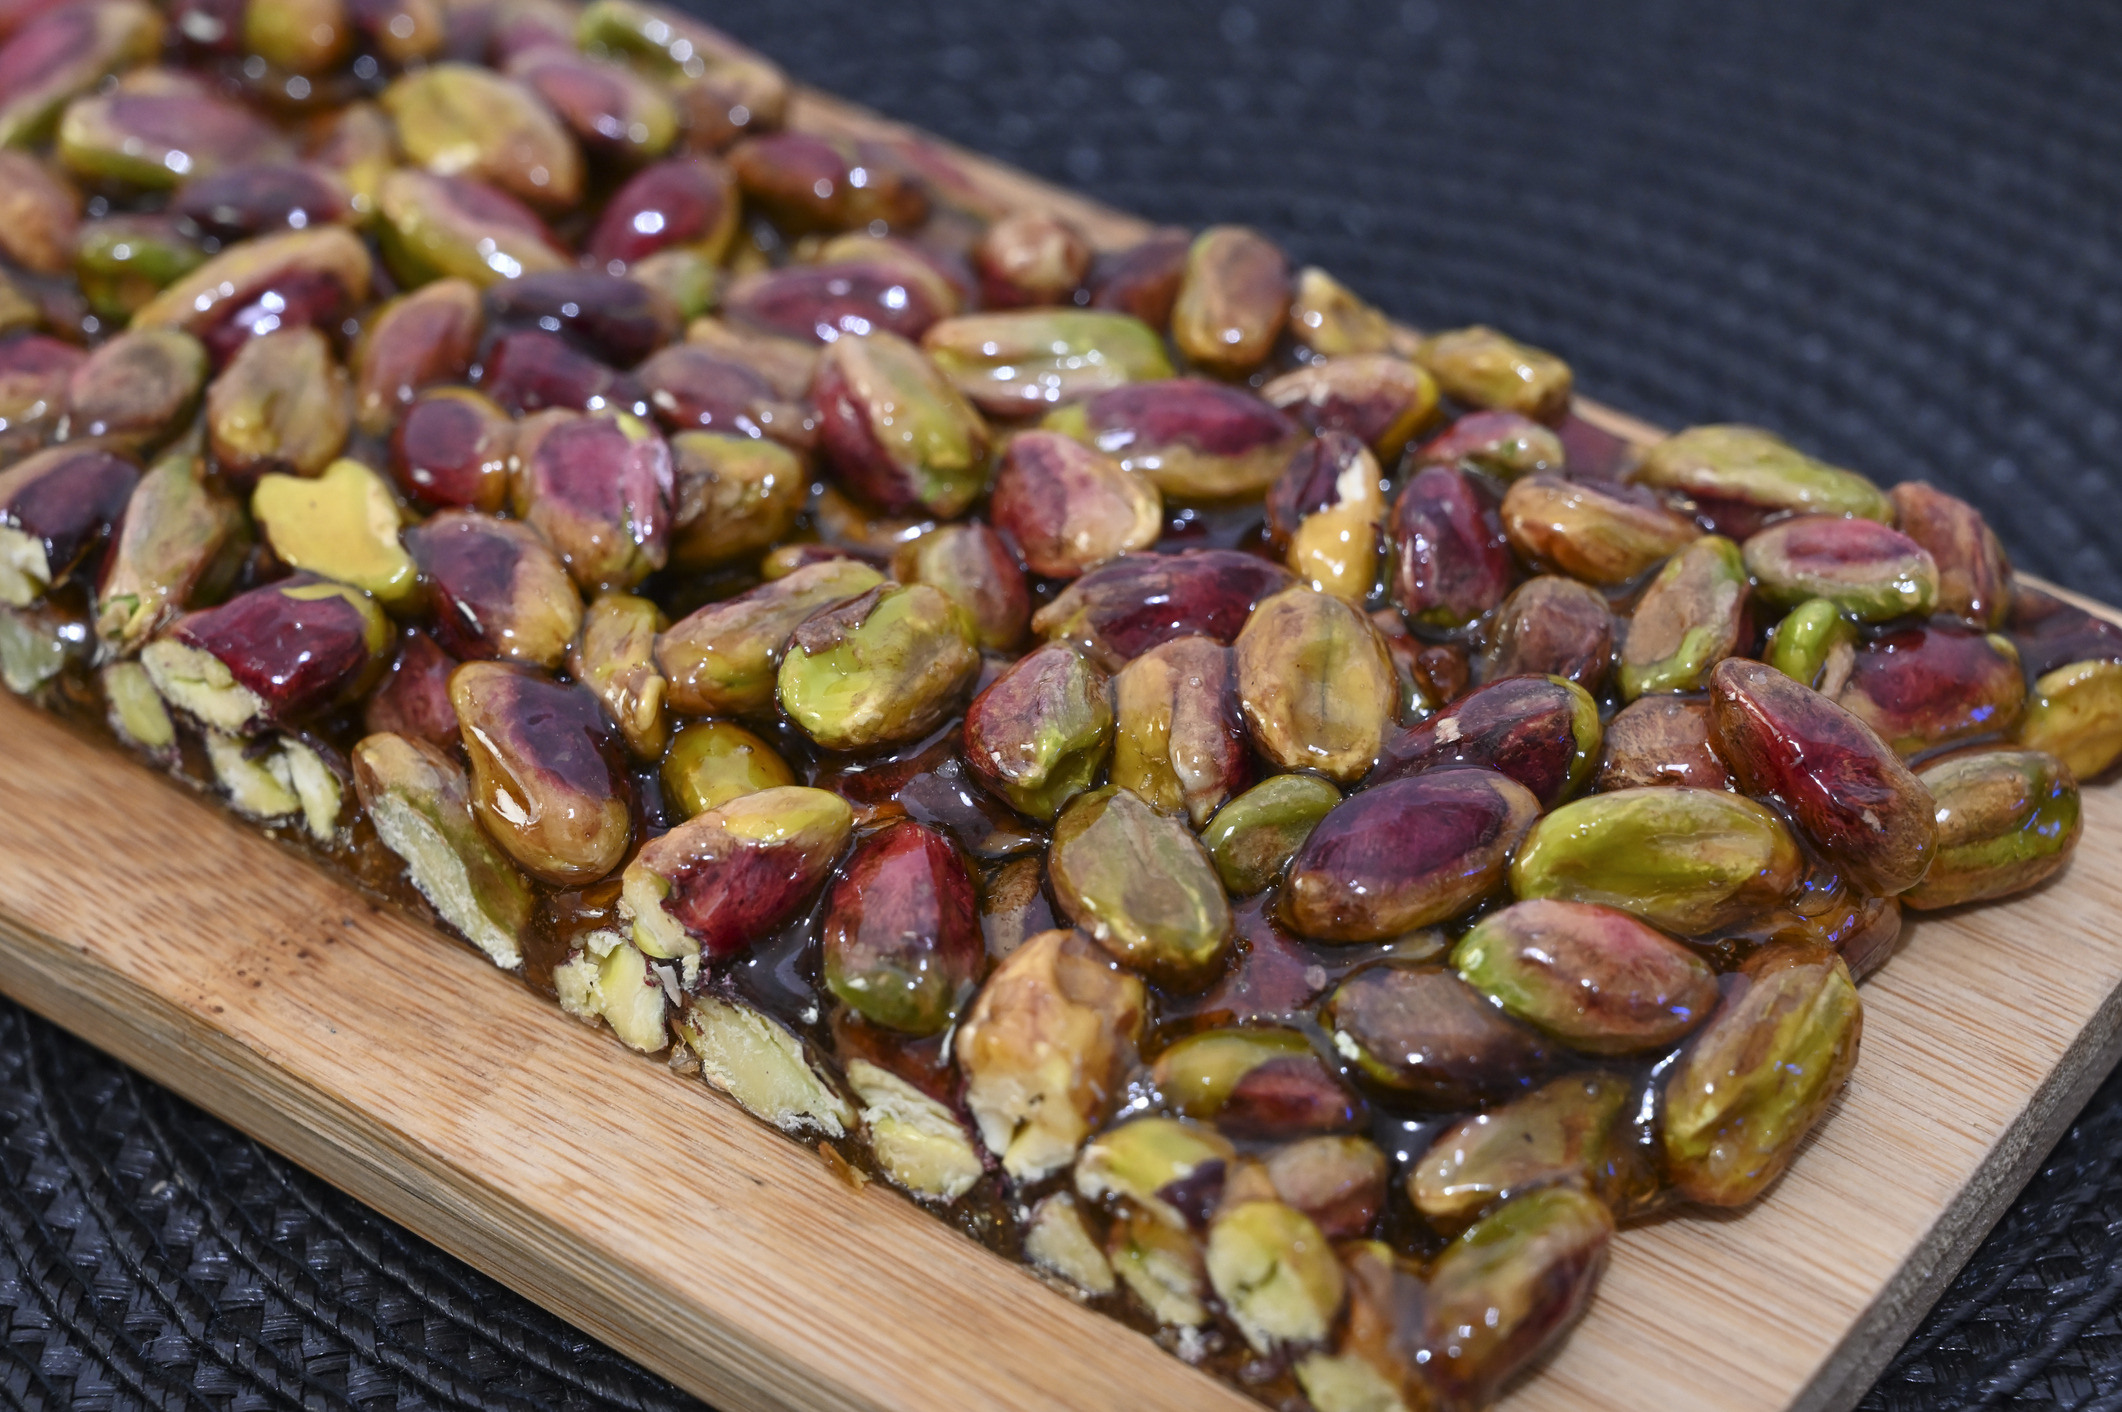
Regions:
[[[0,667],[1277,1406],[1740,1206],[2122,631],[637,0],[0,11]]]

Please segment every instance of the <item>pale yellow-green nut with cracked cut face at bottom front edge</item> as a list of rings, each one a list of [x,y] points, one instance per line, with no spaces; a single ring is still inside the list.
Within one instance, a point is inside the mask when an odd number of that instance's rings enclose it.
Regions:
[[[1239,1202],[1207,1227],[1207,1282],[1254,1353],[1318,1344],[1345,1287],[1311,1217],[1282,1202]]]

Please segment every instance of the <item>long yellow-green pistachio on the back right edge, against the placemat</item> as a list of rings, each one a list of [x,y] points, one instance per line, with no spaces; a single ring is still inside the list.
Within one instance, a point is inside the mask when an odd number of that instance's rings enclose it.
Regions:
[[[1689,427],[1666,437],[1630,473],[1653,490],[1744,505],[1761,514],[1846,514],[1893,524],[1893,501],[1857,471],[1827,465],[1759,427]]]

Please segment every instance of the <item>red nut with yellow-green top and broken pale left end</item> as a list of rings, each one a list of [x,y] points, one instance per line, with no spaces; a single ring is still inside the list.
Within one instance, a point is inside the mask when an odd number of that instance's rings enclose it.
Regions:
[[[660,960],[728,960],[794,919],[855,828],[847,800],[781,786],[741,794],[649,839],[626,864],[622,915]]]

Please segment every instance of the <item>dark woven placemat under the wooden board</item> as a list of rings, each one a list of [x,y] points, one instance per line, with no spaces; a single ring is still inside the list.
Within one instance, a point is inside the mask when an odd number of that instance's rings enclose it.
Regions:
[[[700,8],[1116,206],[1547,344],[1642,416],[1929,476],[2122,601],[2111,0]],[[2118,1153],[2111,1081],[1865,1408],[2122,1408]],[[19,1406],[698,1406],[4,1004],[0,1323]]]

